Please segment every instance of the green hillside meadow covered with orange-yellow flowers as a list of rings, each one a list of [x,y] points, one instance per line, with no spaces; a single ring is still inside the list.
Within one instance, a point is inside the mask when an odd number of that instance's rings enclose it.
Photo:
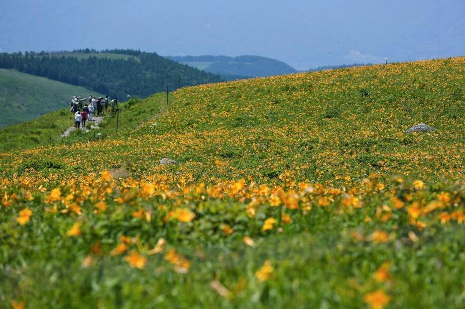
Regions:
[[[461,308],[464,86],[463,57],[208,84],[0,153],[0,307]]]

